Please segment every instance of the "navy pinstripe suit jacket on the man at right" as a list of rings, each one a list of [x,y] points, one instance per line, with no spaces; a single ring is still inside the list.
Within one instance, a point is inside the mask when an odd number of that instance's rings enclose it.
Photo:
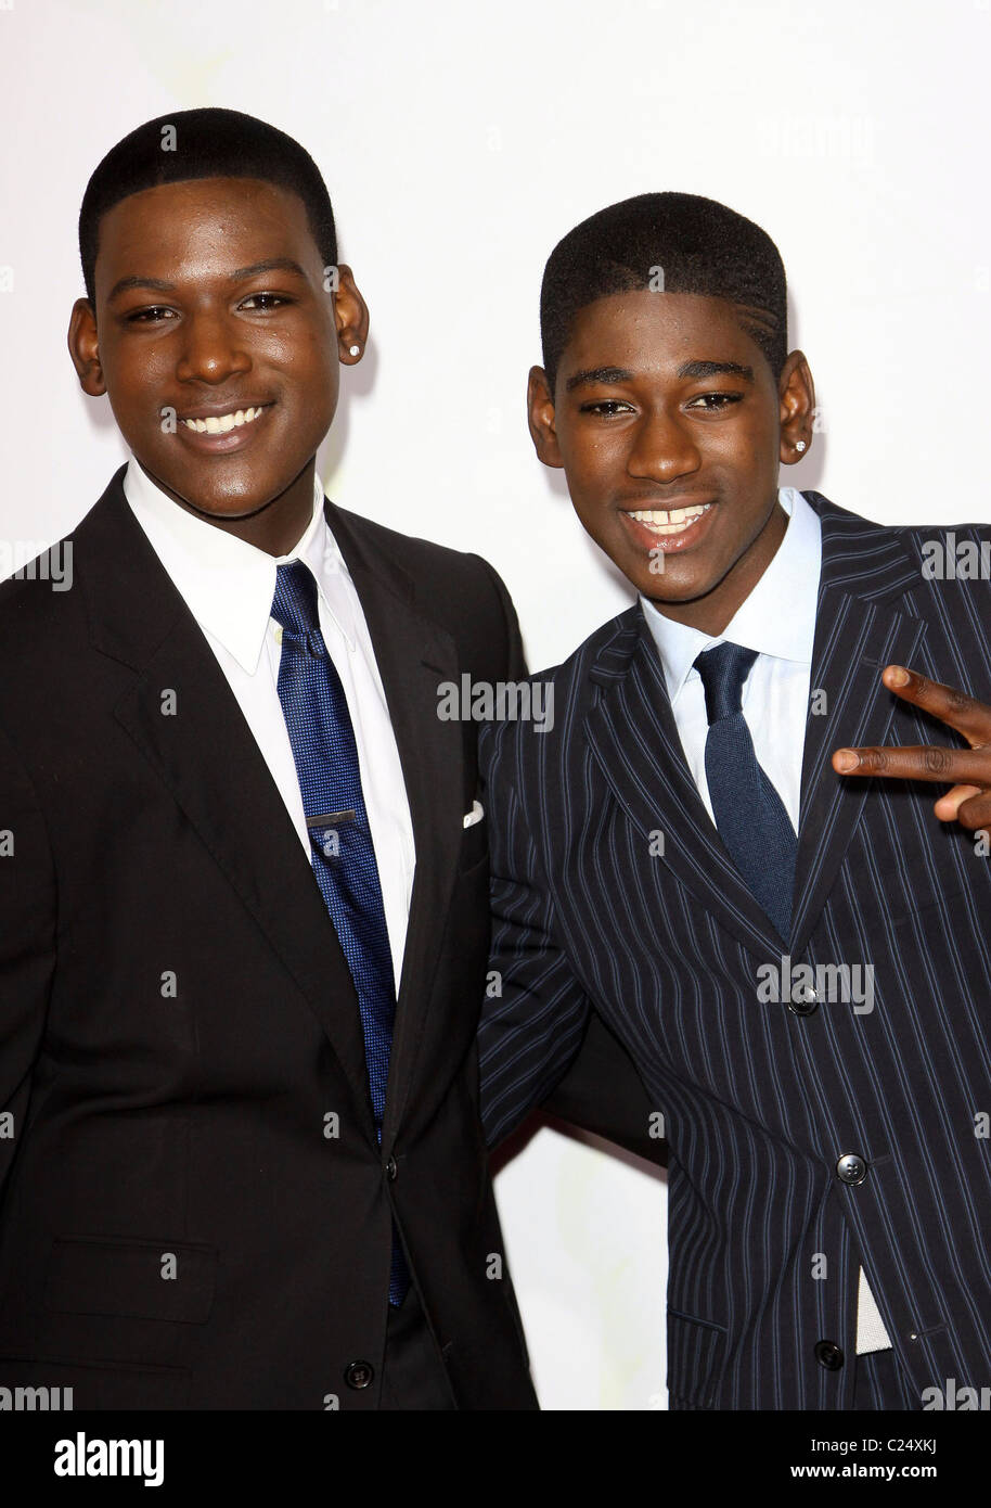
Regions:
[[[780,942],[699,799],[639,606],[550,673],[550,733],[482,739],[502,974],[480,1033],[486,1134],[550,1093],[593,1004],[666,1122],[673,1408],[851,1407],[861,1262],[916,1407],[947,1378],[991,1383],[974,1120],[991,1113],[991,860],[932,816],[938,787],[830,768],[843,745],[962,743],[880,673],[913,665],[991,703],[991,588],[925,579],[946,528],[806,498],[822,576],[789,958],[872,965],[872,1010],[759,998]],[[848,1152],[868,1163],[855,1185],[837,1178]]]

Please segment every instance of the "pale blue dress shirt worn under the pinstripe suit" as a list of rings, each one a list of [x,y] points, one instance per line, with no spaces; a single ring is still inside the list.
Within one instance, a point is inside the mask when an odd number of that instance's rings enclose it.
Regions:
[[[709,817],[712,802],[705,778],[705,740],[709,722],[705,688],[694,661],[703,650],[724,641],[758,651],[742,688],[742,715],[750,728],[758,763],[782,798],[798,832],[801,759],[822,570],[822,531],[818,516],[795,487],[782,487],[777,496],[788,514],[785,538],[723,633],[712,636],[684,623],[675,623],[646,597],[640,597],[640,603],[661,657],[685,760]],[[857,1354],[883,1351],[890,1344],[861,1270]]]

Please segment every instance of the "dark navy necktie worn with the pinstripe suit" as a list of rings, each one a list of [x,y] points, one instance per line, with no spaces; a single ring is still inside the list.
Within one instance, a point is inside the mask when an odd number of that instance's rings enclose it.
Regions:
[[[726,852],[788,941],[798,840],[785,802],[758,763],[742,715],[742,688],[756,657],[756,650],[741,644],[717,644],[694,662],[709,719],[705,778]]]

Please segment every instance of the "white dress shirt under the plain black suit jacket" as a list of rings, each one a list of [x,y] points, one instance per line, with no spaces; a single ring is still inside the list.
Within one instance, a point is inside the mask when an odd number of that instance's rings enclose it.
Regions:
[[[301,559],[316,581],[319,627],[348,701],[358,749],[396,991],[416,863],[410,804],[372,639],[313,483],[313,514],[279,558],[245,544],[173,502],[131,457],[123,492],[152,549],[203,630],[312,863],[303,796],[279,701],[282,626],[271,615],[276,567]],[[208,757],[205,752],[203,757]]]

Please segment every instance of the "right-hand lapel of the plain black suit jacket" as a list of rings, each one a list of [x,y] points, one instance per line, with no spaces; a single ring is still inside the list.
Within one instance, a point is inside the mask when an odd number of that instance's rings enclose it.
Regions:
[[[327,520],[357,588],[372,638],[405,781],[416,870],[389,1059],[383,1146],[410,1093],[462,840],[464,748],[459,722],[437,716],[437,688],[458,680],[450,635],[414,606],[408,573],[375,550],[361,520],[327,504]]]

